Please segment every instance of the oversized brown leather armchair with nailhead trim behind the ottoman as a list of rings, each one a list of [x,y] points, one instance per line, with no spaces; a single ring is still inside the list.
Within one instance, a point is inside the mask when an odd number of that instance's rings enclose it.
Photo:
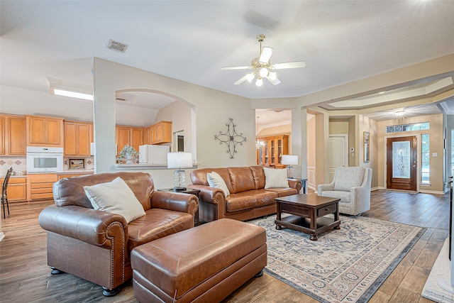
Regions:
[[[121,177],[145,210],[126,223],[118,214],[95,210],[84,185]],[[52,273],[68,272],[103,287],[111,296],[132,277],[131,250],[143,243],[194,227],[195,195],[155,191],[144,172],[116,172],[64,178],[53,185],[55,205],[39,215],[48,232],[48,265]]]

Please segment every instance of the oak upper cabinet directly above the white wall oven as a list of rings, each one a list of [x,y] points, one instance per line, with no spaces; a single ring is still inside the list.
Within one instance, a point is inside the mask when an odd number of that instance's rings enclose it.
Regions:
[[[26,116],[27,146],[63,147],[63,119]]]

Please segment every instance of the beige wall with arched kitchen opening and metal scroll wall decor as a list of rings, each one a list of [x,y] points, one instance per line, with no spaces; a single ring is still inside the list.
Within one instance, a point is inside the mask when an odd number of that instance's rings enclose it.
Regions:
[[[115,157],[109,150],[115,144],[114,92],[121,89],[147,89],[167,94],[194,108],[192,113],[192,153],[199,167],[245,166],[255,164],[255,116],[250,100],[219,92],[206,87],[163,77],[134,67],[94,58],[94,138],[96,145],[95,172],[115,171]],[[163,114],[160,117],[164,117]],[[247,138],[236,146],[237,153],[231,159],[226,144],[220,144],[214,136],[225,133],[228,119],[233,118],[236,132]],[[252,140],[251,140],[252,139]],[[102,157],[100,156],[102,155]],[[150,172],[155,187],[170,187],[173,170],[143,170]],[[187,184],[189,170],[186,170]]]

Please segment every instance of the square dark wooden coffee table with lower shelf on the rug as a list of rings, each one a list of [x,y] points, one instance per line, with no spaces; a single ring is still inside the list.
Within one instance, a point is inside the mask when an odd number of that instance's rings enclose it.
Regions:
[[[332,228],[339,229],[339,201],[341,199],[319,197],[316,194],[294,194],[276,198],[276,229],[282,227],[309,233],[309,239],[317,241],[317,235]],[[282,218],[281,214],[292,214]],[[334,218],[324,217],[334,214]]]

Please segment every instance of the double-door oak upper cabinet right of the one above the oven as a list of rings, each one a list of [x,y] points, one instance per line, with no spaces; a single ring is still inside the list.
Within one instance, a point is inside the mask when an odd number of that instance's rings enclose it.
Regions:
[[[90,143],[93,138],[93,123],[65,121],[64,126],[64,153],[65,155],[90,155]]]

